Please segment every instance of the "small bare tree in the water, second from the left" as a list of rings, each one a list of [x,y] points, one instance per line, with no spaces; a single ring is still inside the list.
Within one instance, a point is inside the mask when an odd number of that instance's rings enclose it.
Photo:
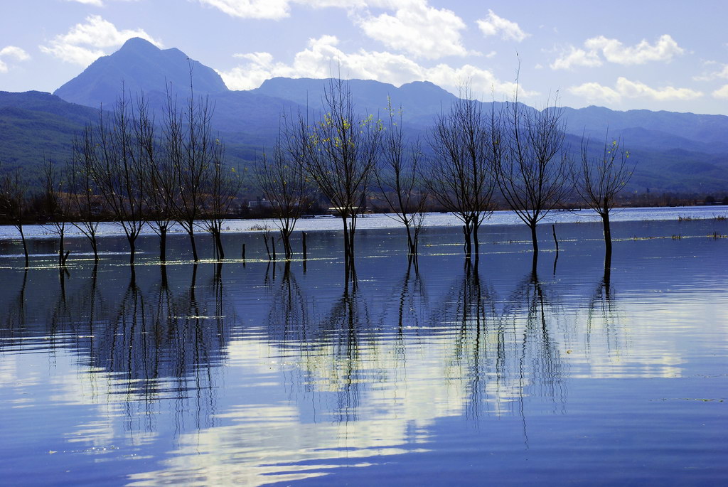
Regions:
[[[66,265],[68,253],[66,252],[66,222],[70,202],[66,193],[66,181],[58,173],[50,159],[43,167],[43,213],[47,223],[44,225],[58,235],[58,265]]]

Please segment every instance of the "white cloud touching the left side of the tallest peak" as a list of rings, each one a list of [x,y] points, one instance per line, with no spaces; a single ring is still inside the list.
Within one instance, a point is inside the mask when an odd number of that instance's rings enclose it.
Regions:
[[[86,17],[86,23],[74,25],[66,34],[55,36],[47,46],[39,46],[42,52],[53,55],[68,63],[88,66],[106,55],[107,47],[119,47],[132,37],[141,37],[157,47],[162,44],[152,39],[142,29],[119,31],[114,24],[103,20],[100,15]]]

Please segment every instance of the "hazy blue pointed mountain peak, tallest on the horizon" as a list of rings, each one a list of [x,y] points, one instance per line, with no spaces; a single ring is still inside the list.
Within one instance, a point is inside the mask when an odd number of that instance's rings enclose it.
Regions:
[[[189,91],[190,69],[194,90],[199,94],[227,91],[223,79],[212,68],[191,60],[178,49],[160,50],[135,37],[114,54],[95,60],[82,74],[55,90],[63,100],[80,105],[111,106],[124,89],[139,92],[165,91],[166,84]],[[166,84],[165,84],[166,83]]]

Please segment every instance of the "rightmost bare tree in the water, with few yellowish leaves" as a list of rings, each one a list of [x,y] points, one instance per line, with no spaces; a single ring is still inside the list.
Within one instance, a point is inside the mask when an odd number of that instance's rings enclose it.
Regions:
[[[609,226],[609,213],[617,201],[617,193],[630,181],[634,165],[628,163],[630,153],[624,149],[622,139],[610,142],[609,132],[604,137],[604,149],[597,156],[590,155],[589,138],[582,136],[579,155],[579,165],[572,173],[574,189],[585,204],[601,216],[606,254],[611,256],[612,229]]]

